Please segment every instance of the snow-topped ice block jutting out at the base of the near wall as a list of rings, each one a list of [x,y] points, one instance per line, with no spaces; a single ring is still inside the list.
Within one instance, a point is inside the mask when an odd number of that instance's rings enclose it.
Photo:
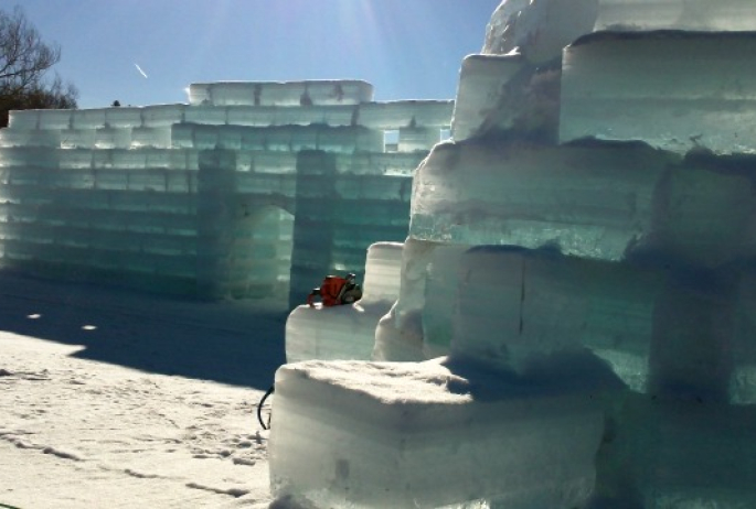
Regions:
[[[583,507],[604,431],[596,394],[456,369],[439,361],[279,368],[274,496],[321,509]]]

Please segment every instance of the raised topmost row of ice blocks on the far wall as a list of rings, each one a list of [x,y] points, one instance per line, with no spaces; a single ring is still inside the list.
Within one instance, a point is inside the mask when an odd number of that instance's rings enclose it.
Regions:
[[[352,79],[306,82],[217,82],[189,86],[190,105],[356,105],[373,99],[373,86]]]

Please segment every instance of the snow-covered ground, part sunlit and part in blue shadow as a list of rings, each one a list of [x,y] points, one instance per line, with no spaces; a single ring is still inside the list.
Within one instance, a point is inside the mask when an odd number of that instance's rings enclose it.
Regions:
[[[0,507],[267,508],[286,314],[0,273]]]

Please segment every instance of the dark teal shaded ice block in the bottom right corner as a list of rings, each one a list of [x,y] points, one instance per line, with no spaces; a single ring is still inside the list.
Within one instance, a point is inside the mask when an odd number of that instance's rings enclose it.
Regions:
[[[755,407],[630,396],[608,420],[595,507],[722,508],[756,503]]]

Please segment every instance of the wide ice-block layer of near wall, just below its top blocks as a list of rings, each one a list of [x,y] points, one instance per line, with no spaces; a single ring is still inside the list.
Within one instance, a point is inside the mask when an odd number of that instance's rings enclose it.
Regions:
[[[409,236],[718,266],[756,251],[754,164],[643,143],[441,143],[416,172]]]

